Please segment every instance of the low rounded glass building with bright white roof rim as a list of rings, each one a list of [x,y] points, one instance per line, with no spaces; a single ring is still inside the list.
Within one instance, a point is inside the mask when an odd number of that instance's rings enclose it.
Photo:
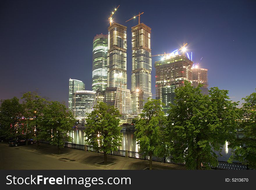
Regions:
[[[93,110],[95,91],[78,90],[72,94],[72,112],[78,120],[86,119]]]

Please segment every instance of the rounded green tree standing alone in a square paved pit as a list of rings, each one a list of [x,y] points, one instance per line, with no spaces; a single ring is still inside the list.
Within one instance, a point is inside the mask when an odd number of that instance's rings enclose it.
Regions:
[[[121,115],[114,106],[99,102],[86,119],[87,128],[84,130],[85,140],[97,151],[104,152],[104,164],[107,164],[107,154],[117,151],[121,146],[122,134],[119,126]]]

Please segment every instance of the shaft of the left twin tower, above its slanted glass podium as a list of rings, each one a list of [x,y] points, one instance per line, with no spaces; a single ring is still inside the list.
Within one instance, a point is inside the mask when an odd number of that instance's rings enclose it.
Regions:
[[[113,23],[108,28],[108,87],[127,89],[126,29],[126,26],[118,23]]]

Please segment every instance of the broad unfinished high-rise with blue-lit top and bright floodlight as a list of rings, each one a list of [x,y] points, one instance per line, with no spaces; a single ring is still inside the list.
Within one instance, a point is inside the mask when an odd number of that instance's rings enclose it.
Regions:
[[[171,55],[156,61],[156,99],[165,104],[163,111],[167,113],[169,104],[174,101],[174,89],[183,86],[184,81],[191,81],[193,62],[185,55]]]

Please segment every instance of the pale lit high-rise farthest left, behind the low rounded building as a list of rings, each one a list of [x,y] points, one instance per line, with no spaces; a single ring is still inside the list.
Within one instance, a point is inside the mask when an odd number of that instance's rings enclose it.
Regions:
[[[72,111],[72,94],[77,90],[84,90],[85,84],[77,79],[69,79],[68,109]]]

